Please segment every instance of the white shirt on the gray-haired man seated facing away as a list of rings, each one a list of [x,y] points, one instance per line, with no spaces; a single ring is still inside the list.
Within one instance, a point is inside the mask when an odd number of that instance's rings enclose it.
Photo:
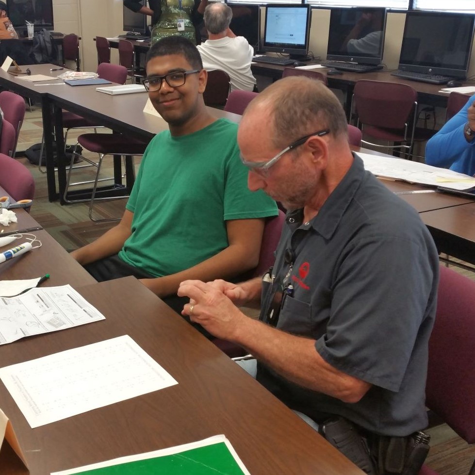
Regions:
[[[243,36],[218,40],[206,40],[197,46],[203,67],[207,71],[222,69],[229,74],[231,91],[242,89],[252,91],[256,79],[251,72],[254,50]]]

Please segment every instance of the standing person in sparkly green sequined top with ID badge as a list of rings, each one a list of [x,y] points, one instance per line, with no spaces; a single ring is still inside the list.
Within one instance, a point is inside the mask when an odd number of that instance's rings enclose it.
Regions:
[[[148,7],[141,0],[124,0],[133,12],[152,17],[151,44],[166,36],[180,35],[195,44],[201,43],[199,24],[208,0],[148,0]]]

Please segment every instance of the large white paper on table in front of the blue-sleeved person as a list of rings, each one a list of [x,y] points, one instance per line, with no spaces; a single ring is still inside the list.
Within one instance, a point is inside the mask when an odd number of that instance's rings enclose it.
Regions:
[[[364,162],[364,168],[380,177],[405,180],[410,183],[443,186],[454,190],[468,190],[475,186],[474,177],[447,168],[411,162],[396,157],[357,153]]]

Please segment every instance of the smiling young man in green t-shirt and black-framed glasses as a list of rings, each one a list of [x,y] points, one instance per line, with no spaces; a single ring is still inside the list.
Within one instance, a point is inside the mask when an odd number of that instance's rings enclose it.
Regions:
[[[237,124],[203,101],[196,47],[172,36],[147,55],[150,100],[168,123],[147,147],[120,223],[72,252],[97,280],[133,275],[175,310],[186,279],[236,278],[257,265],[273,200],[247,188]]]

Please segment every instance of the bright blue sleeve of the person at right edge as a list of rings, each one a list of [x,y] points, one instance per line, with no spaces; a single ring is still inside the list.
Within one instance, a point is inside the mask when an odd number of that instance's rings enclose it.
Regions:
[[[472,96],[460,112],[427,142],[426,164],[449,168],[463,152],[473,147],[475,141],[466,141],[463,128],[467,123],[467,110],[474,101],[475,96]]]

